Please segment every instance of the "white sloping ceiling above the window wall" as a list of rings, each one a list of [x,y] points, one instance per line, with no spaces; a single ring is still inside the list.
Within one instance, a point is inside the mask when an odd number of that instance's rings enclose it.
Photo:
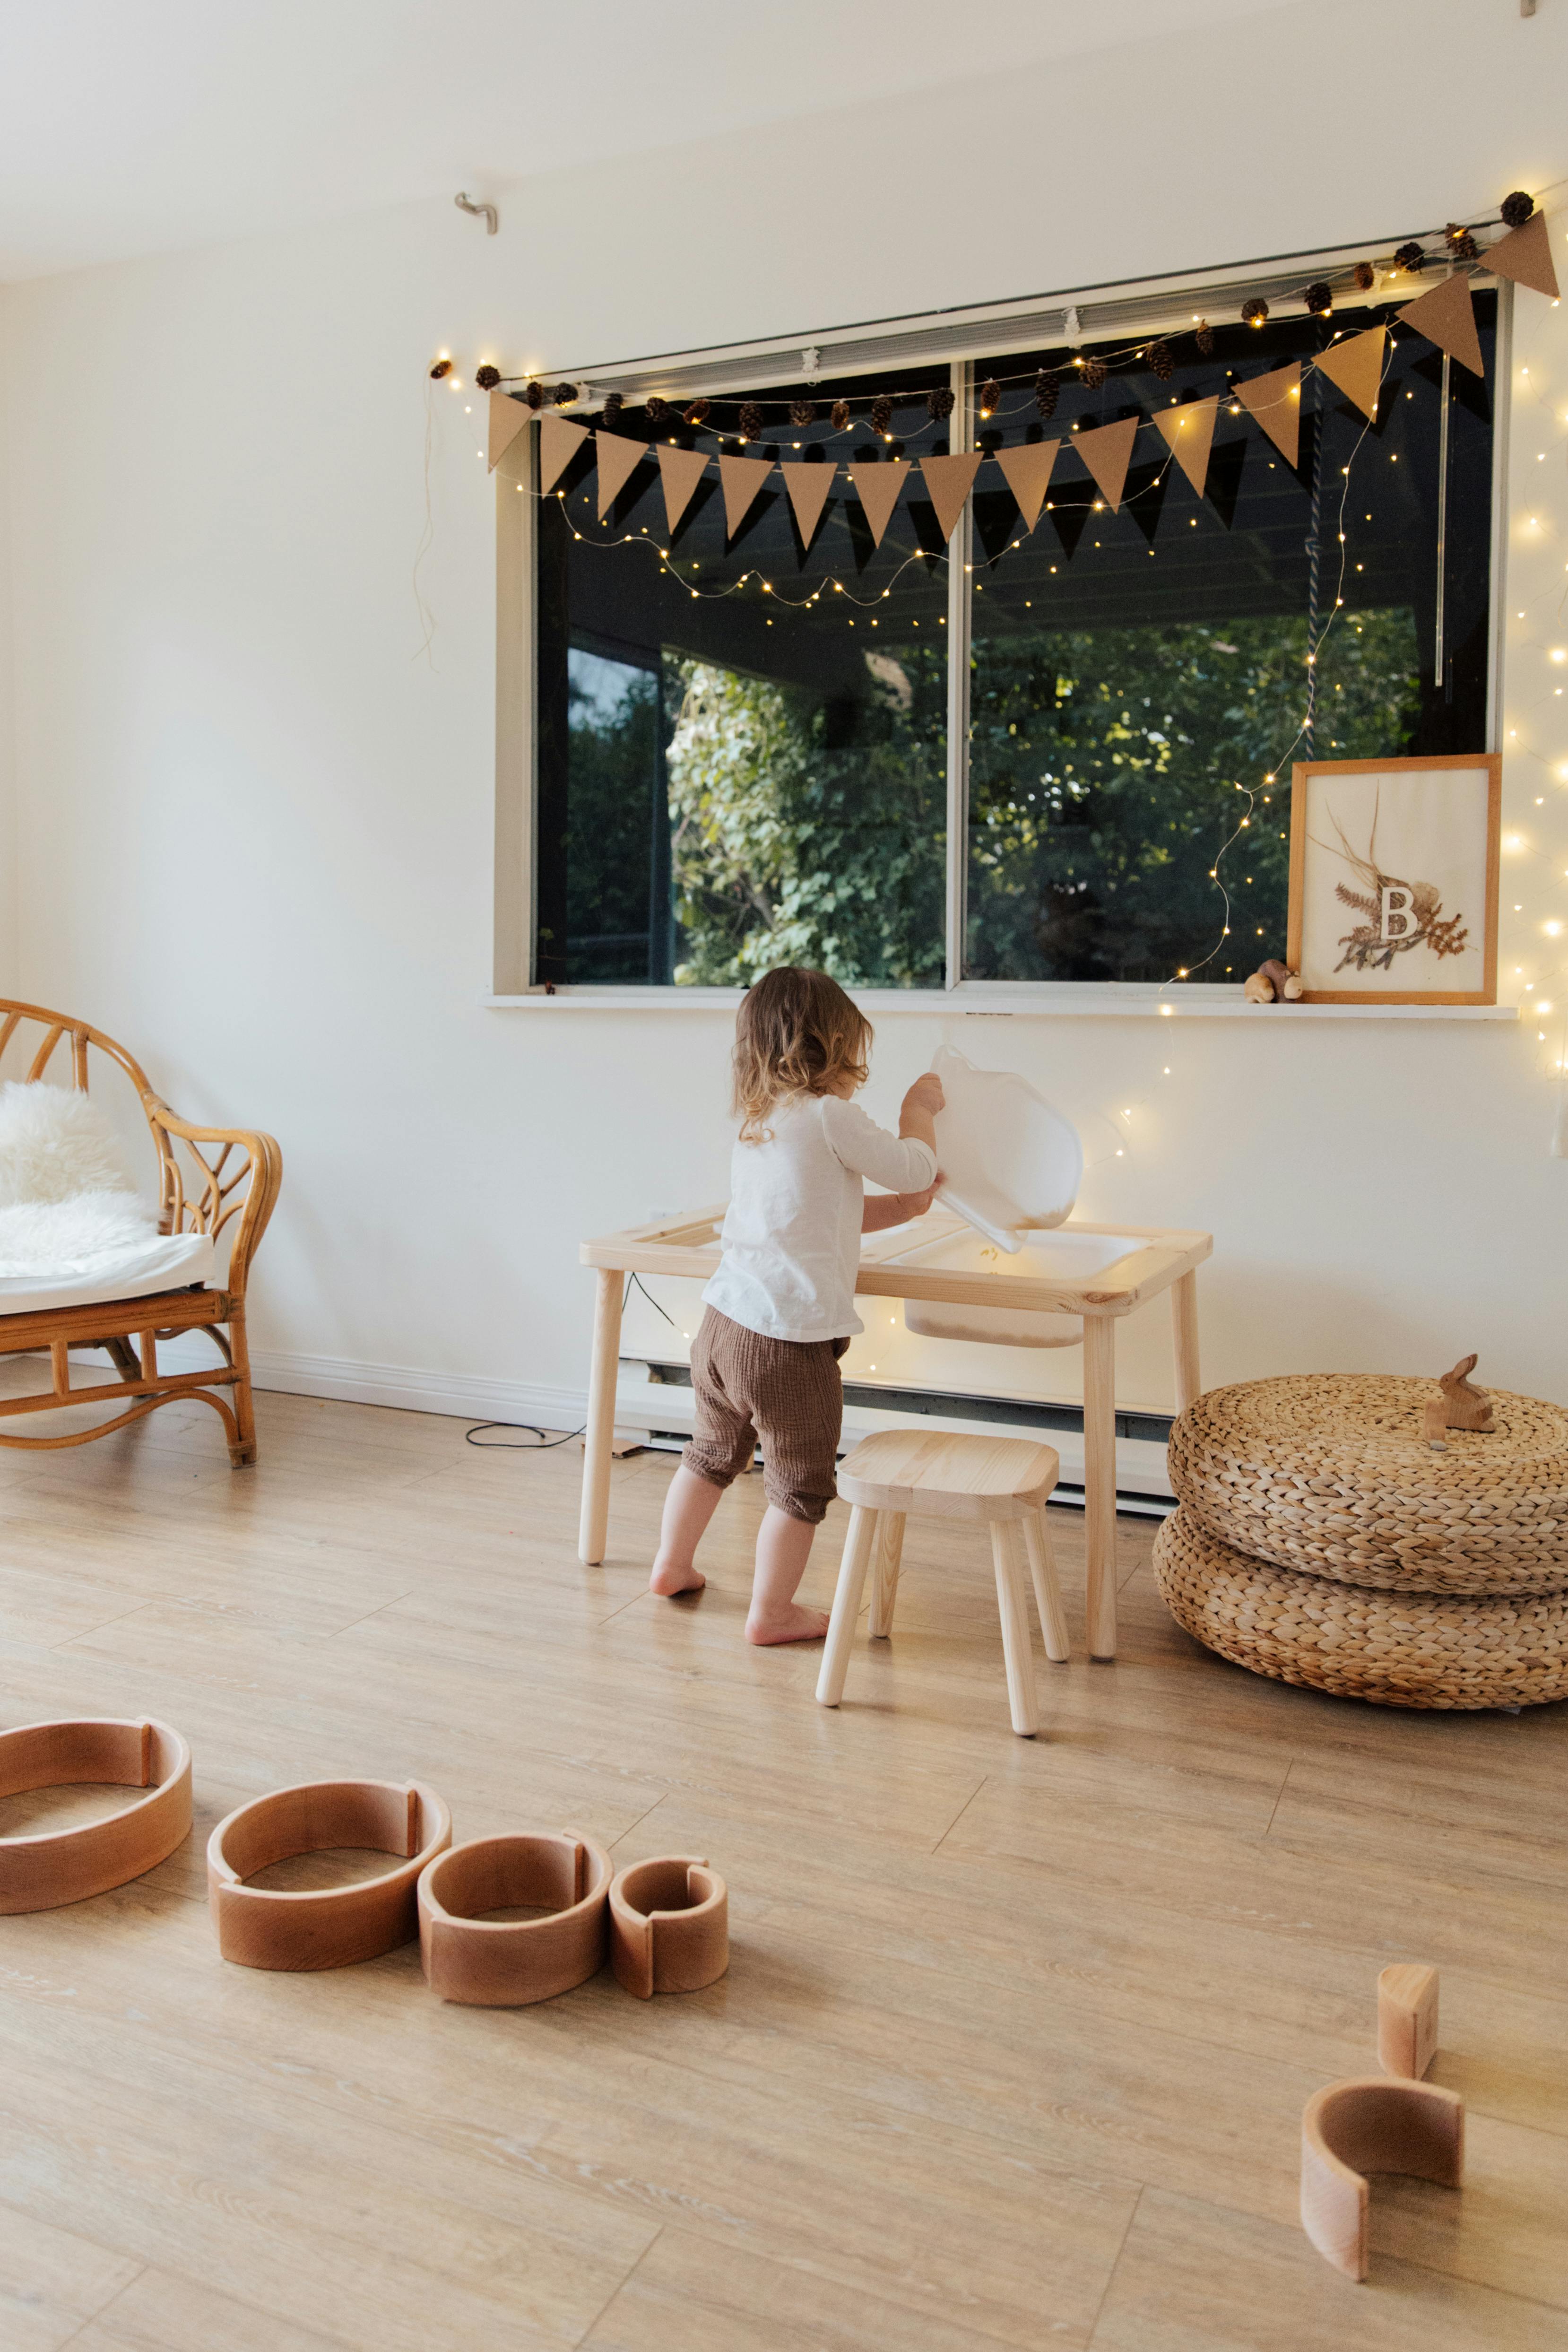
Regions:
[[[1286,0],[0,0],[0,280],[294,228]]]

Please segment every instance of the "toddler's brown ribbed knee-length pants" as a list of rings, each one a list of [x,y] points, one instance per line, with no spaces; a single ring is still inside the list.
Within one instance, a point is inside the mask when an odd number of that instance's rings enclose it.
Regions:
[[[682,1454],[686,1470],[729,1486],[750,1470],[762,1439],[769,1503],[816,1526],[837,1494],[846,1348],[846,1338],[764,1338],[705,1308],[691,1345],[696,1423]]]

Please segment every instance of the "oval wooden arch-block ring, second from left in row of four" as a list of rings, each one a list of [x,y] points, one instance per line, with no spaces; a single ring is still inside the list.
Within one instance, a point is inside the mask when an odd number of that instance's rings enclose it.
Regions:
[[[219,1952],[242,1969],[346,1969],[418,1936],[421,1870],[451,1844],[451,1813],[418,1780],[306,1780],[254,1797],[207,1839],[207,1900]],[[287,1893],[247,1886],[268,1863],[320,1846],[407,1856],[357,1886]]]

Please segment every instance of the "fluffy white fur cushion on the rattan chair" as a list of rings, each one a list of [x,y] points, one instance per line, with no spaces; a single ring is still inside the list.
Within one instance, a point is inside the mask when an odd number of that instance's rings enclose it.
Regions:
[[[0,1087],[0,1275],[92,1275],[158,1235],[85,1094]]]

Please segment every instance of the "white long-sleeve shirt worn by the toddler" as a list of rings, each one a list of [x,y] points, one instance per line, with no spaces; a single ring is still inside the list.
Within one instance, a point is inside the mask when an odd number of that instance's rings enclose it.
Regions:
[[[889,1136],[858,1103],[797,1094],[769,1117],[766,1143],[736,1143],[724,1256],[710,1308],[766,1338],[849,1338],[856,1315],[865,1183],[922,1192],[936,1152]]]

